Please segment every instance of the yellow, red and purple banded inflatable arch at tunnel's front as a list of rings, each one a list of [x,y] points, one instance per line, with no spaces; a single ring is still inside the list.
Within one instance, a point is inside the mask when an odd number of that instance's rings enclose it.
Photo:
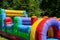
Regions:
[[[59,30],[60,23],[56,18],[47,17],[47,18],[42,18],[40,20],[37,20],[32,25],[30,40],[47,40],[48,29],[52,26],[57,27]]]

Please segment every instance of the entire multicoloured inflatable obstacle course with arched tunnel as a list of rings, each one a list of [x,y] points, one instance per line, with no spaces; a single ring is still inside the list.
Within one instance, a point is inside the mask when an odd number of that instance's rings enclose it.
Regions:
[[[60,19],[46,16],[38,19],[28,17],[25,10],[0,9],[0,32],[19,40],[60,40]]]

